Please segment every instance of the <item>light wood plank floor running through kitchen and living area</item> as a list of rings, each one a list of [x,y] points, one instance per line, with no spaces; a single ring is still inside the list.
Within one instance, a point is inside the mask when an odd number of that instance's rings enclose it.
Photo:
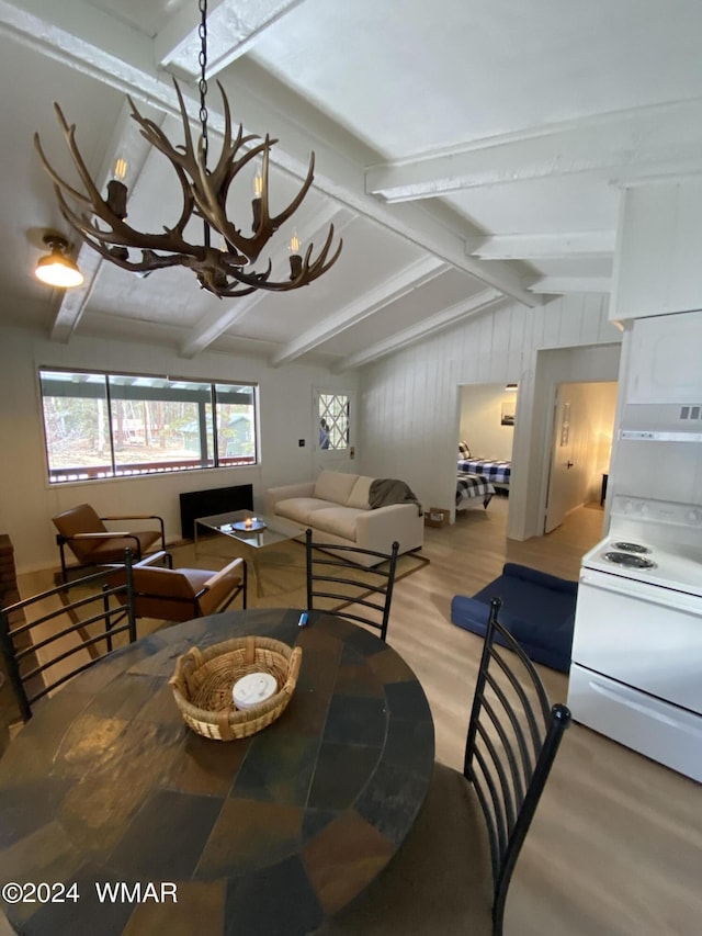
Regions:
[[[495,497],[451,527],[427,528],[430,564],[400,579],[393,598],[388,641],[424,687],[438,758],[456,768],[480,640],[450,622],[451,598],[486,585],[506,561],[577,578],[580,557],[602,537],[602,510],[592,505],[547,537],[508,541],[507,509]],[[186,553],[178,551],[177,565],[189,564]],[[566,701],[567,677],[540,672],[552,701]],[[517,866],[506,936],[702,934],[701,793],[694,781],[574,724]]]

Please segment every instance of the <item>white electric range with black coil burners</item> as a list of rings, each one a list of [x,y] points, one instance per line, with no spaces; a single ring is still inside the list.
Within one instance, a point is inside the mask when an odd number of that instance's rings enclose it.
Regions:
[[[702,508],[613,497],[582,557],[568,707],[702,781]]]

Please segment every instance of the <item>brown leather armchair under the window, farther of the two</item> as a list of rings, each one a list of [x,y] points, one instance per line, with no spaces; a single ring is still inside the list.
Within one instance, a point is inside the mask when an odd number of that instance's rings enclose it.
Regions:
[[[109,530],[104,521],[123,520],[158,520],[158,530]],[[99,517],[89,504],[79,504],[70,510],[64,510],[53,518],[54,526],[58,530],[56,542],[61,557],[61,579],[68,582],[68,573],[71,570],[90,568],[91,566],[110,565],[121,562],[125,549],[129,549],[136,562],[147,555],[148,551],[158,544],[163,551],[162,556],[167,564],[172,566],[173,561],[166,550],[166,538],[163,520],[155,514],[132,514],[114,517]],[[76,565],[67,565],[65,546],[71,551],[78,560]]]

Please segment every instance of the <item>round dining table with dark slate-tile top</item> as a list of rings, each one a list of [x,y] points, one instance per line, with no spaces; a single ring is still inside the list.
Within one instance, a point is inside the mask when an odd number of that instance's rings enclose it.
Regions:
[[[18,933],[295,936],[380,873],[427,794],[429,704],[387,643],[299,614],[165,628],[35,707],[0,759],[0,898]],[[251,737],[202,737],[168,685],[177,657],[245,634],[303,647],[293,698]]]

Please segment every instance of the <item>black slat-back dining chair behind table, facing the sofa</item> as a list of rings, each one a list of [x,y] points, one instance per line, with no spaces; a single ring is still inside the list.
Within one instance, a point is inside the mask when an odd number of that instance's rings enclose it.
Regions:
[[[330,611],[367,624],[385,640],[399,543],[394,542],[387,554],[336,543],[313,543],[313,532],[307,530],[305,546],[307,609]],[[367,566],[360,560],[365,563],[372,560],[375,564]]]

